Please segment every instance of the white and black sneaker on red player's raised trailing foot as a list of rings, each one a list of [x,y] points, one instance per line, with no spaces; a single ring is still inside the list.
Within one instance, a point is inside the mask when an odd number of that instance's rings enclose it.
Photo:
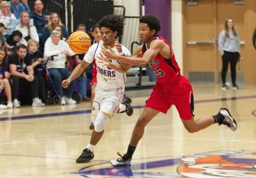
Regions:
[[[227,126],[230,130],[235,131],[237,130],[237,122],[234,118],[232,118],[229,110],[226,108],[220,108],[219,113],[224,116],[224,119],[219,125],[223,124]]]

